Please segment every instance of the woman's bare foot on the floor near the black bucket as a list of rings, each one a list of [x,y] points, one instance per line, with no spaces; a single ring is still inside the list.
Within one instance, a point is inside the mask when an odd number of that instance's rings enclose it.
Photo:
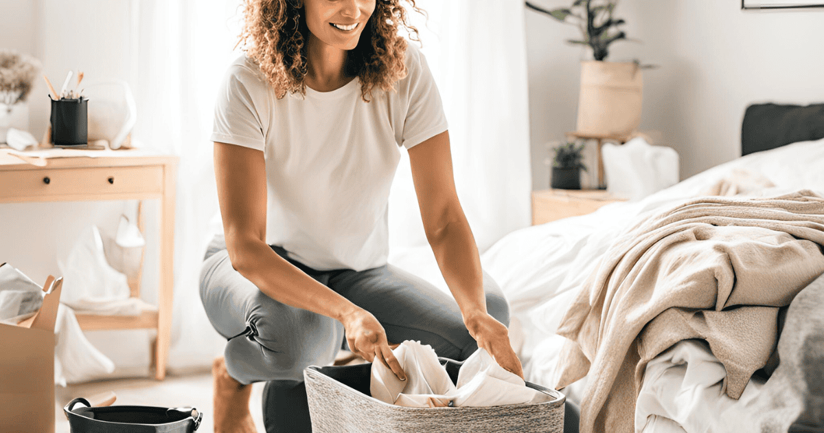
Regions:
[[[212,363],[212,378],[214,433],[257,433],[249,412],[252,386],[233,379],[222,356]]]

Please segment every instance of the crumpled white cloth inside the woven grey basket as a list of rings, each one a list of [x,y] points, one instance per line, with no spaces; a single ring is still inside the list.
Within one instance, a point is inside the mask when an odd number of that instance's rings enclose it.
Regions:
[[[405,407],[429,407],[429,398],[451,400],[455,407],[501,406],[549,401],[550,396],[527,388],[523,379],[498,365],[485,350],[475,351],[461,365],[457,384],[438,361],[431,346],[404,341],[393,351],[406,373],[402,381],[381,362],[372,363],[370,392],[382,402]]]

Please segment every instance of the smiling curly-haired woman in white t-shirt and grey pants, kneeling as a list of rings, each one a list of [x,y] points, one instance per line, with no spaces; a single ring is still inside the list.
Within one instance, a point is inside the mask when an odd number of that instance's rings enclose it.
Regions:
[[[457,199],[438,89],[398,35],[415,31],[399,3],[246,0],[246,55],[224,78],[212,136],[224,236],[201,273],[208,318],[228,339],[213,365],[217,432],[255,431],[259,381],[267,431],[311,431],[302,370],[331,364],[342,344],[400,379],[389,341],[456,360],[480,346],[523,375]],[[386,263],[400,146],[456,302]]]

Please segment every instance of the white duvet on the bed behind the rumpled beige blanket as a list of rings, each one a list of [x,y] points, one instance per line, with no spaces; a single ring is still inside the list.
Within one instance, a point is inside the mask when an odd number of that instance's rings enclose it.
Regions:
[[[752,191],[754,195],[803,188],[824,193],[824,139],[737,158],[644,200],[606,205],[592,214],[522,228],[484,252],[481,262],[485,271],[499,283],[510,303],[513,322],[510,333],[524,363],[525,379],[546,387],[555,386],[555,360],[564,342],[563,337],[555,335],[560,318],[611,241],[627,224],[640,214],[703,195],[709,187],[742,170],[763,176],[775,185]],[[390,261],[414,270],[447,291],[431,250],[400,252],[391,256]],[[564,393],[570,400],[578,400],[585,380],[565,388]],[[658,394],[662,402],[669,395]],[[646,424],[645,432],[685,431],[663,415],[650,413],[650,416],[653,419]]]

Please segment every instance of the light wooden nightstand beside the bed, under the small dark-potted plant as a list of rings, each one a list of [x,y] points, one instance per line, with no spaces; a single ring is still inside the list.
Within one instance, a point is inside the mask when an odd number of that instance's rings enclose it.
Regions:
[[[595,212],[616,199],[604,190],[532,191],[532,225]]]

